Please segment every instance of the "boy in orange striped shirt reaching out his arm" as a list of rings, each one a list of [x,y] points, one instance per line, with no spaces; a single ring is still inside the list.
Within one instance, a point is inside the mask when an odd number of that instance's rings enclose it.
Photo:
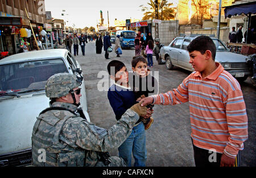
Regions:
[[[208,36],[197,37],[187,48],[195,72],[177,89],[143,98],[142,106],[189,102],[196,166],[238,165],[247,139],[247,114],[240,84],[214,61],[216,46]]]

